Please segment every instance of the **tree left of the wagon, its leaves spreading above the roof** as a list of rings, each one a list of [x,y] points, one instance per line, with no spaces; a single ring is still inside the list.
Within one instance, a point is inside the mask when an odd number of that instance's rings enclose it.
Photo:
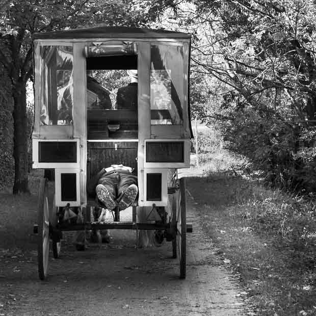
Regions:
[[[134,0],[5,0],[0,7],[0,64],[6,68],[14,97],[13,192],[26,192],[28,129],[25,86],[33,80],[32,35],[36,32],[95,27],[96,25],[143,27],[173,1]],[[10,47],[10,54],[5,49]]]

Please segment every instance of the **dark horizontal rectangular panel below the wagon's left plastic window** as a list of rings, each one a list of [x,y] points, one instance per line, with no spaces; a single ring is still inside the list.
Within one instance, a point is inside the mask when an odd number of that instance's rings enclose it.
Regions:
[[[40,163],[76,163],[76,142],[39,142]]]

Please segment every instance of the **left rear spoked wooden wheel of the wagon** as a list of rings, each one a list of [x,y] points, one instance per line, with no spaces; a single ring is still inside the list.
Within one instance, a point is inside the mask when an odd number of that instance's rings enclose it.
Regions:
[[[39,278],[44,280],[48,270],[49,253],[49,204],[48,180],[41,179],[38,199],[38,243],[37,260]]]

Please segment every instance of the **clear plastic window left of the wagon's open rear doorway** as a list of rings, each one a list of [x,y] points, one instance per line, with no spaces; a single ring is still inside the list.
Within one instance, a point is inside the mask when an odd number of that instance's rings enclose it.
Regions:
[[[40,124],[73,125],[73,49],[41,46]]]

